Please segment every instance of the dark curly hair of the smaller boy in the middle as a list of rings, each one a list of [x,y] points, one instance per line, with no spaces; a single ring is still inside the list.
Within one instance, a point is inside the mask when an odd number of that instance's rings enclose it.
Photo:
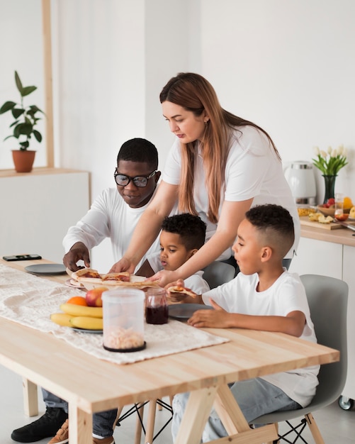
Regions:
[[[205,243],[206,224],[199,216],[190,213],[167,216],[162,223],[162,230],[180,235],[186,250],[201,248]]]

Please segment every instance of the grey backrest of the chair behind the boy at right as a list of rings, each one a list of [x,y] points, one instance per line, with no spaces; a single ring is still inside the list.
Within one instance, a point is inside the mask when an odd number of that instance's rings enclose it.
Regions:
[[[327,405],[342,393],[346,379],[346,311],[349,288],[340,279],[319,274],[303,274],[300,279],[305,286],[317,342],[340,351],[339,362],[320,367],[320,384],[312,400],[312,404]]]

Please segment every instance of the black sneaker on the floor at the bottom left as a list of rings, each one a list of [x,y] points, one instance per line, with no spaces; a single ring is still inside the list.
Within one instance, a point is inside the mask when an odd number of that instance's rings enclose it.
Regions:
[[[33,423],[16,428],[11,433],[11,439],[18,443],[34,443],[43,438],[50,438],[57,433],[58,428],[68,418],[68,414],[58,407],[47,407],[45,414]]]

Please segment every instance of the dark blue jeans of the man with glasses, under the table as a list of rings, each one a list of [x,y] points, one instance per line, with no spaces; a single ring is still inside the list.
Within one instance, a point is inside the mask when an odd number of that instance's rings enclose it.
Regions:
[[[55,394],[47,392],[47,390],[42,389],[43,401],[47,407],[57,407],[63,409],[68,413],[68,403],[64,399],[60,399]],[[117,409],[100,411],[93,414],[92,417],[92,428],[94,435],[101,436],[102,438],[107,438],[113,435],[113,423],[117,416]]]

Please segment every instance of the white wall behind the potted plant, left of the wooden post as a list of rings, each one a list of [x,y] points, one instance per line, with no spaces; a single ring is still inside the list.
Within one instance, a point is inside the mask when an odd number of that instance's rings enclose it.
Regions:
[[[15,84],[15,71],[24,87],[38,87],[30,96],[23,99],[24,106],[37,105],[44,110],[44,67],[42,40],[42,13],[40,0],[0,0],[0,106],[6,101],[20,103],[21,96]],[[13,168],[11,150],[18,150],[18,140],[10,138],[13,133],[9,128],[14,118],[10,112],[0,116],[0,169]],[[30,149],[36,150],[35,167],[46,162],[44,121],[37,129],[43,135],[43,143],[34,138],[30,140]]]

